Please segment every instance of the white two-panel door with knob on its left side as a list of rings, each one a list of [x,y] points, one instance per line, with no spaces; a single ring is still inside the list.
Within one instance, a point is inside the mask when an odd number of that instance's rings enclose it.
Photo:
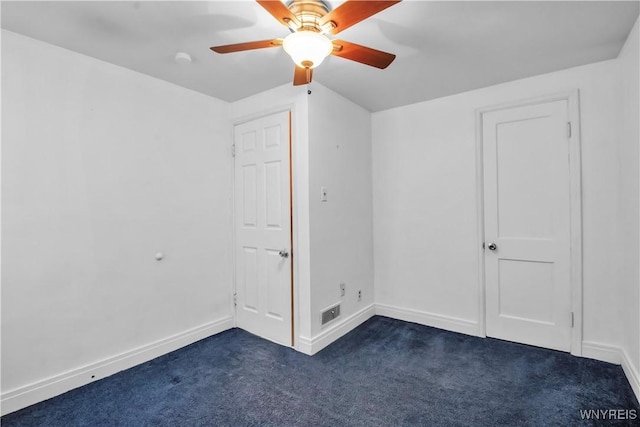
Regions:
[[[482,115],[487,335],[571,349],[567,100]]]

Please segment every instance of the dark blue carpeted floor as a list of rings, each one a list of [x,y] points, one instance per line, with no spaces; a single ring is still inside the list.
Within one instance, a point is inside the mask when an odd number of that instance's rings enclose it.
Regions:
[[[640,407],[619,366],[374,317],[313,357],[233,329],[2,426],[572,426]],[[630,412],[627,412],[630,413]]]

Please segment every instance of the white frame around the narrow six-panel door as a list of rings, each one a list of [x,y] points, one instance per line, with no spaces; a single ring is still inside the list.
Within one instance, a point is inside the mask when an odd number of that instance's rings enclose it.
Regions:
[[[291,215],[291,248],[289,250],[290,256],[291,256],[291,347],[296,347],[298,345],[297,341],[297,337],[298,337],[298,328],[299,328],[299,319],[298,319],[298,289],[295,286],[295,284],[297,283],[296,280],[296,276],[298,274],[298,268],[297,268],[297,254],[296,252],[296,243],[297,243],[297,239],[296,239],[296,235],[294,233],[296,233],[296,226],[294,223],[294,219],[295,219],[295,215],[294,215],[294,197],[295,197],[295,187],[294,187],[294,164],[293,164],[293,160],[294,160],[294,153],[293,153],[293,149],[294,149],[294,145],[295,145],[295,141],[294,141],[294,105],[286,105],[286,106],[280,106],[280,107],[276,107],[276,108],[271,108],[271,109],[265,109],[264,111],[260,112],[260,113],[256,113],[256,114],[250,114],[247,116],[242,116],[236,119],[233,119],[231,121],[231,146],[230,149],[231,150],[235,150],[235,127],[237,125],[241,125],[243,123],[247,123],[253,120],[257,120],[260,119],[262,117],[267,117],[273,114],[277,114],[277,113],[282,113],[282,112],[288,112],[289,113],[289,208],[290,208],[290,215]],[[232,151],[233,153],[233,151]],[[232,268],[232,275],[231,275],[231,280],[233,281],[233,288],[232,288],[232,293],[231,293],[231,308],[232,308],[232,312],[233,312],[233,326],[237,327],[238,326],[238,319],[236,317],[236,301],[235,301],[235,294],[237,292],[237,278],[236,278],[236,218],[235,218],[235,212],[236,212],[236,202],[235,202],[235,190],[236,190],[236,180],[235,180],[235,153],[233,153],[231,156],[231,265],[233,266]]]

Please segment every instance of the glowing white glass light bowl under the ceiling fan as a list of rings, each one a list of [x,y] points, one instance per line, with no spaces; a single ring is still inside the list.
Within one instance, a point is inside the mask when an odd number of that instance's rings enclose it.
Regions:
[[[282,47],[302,68],[315,68],[333,50],[328,37],[315,31],[297,31],[284,38]]]

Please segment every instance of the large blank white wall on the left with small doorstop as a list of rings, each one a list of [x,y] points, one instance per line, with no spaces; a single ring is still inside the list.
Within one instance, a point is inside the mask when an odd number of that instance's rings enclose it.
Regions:
[[[2,92],[3,411],[231,327],[227,104],[7,31]]]

